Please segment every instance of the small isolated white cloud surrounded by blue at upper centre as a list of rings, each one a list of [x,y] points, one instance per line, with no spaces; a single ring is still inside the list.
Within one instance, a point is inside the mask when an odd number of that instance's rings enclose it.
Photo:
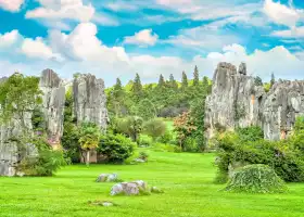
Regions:
[[[159,36],[152,33],[152,29],[143,29],[136,33],[134,36],[127,36],[124,43],[138,46],[154,46],[157,42]]]

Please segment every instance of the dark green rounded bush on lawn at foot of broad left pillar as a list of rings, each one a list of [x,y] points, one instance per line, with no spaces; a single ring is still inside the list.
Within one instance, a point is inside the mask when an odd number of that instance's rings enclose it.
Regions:
[[[97,152],[105,157],[106,163],[122,164],[132,156],[136,144],[123,135],[101,136]]]

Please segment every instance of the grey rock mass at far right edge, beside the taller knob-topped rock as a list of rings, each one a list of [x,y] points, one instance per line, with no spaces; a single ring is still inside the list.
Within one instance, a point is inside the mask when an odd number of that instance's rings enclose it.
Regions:
[[[261,115],[266,139],[286,139],[296,117],[304,115],[304,81],[276,82],[265,95]]]

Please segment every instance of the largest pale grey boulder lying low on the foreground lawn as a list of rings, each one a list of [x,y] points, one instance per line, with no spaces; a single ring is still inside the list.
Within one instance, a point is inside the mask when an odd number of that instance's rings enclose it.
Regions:
[[[142,180],[116,183],[111,189],[111,195],[139,195],[140,192],[147,191],[147,183]]]

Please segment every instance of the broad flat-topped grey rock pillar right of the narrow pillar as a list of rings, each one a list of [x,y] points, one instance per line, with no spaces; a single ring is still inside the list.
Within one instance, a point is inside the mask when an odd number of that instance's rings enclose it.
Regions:
[[[86,74],[74,79],[74,110],[78,123],[92,122],[106,129],[109,122],[104,82]]]

